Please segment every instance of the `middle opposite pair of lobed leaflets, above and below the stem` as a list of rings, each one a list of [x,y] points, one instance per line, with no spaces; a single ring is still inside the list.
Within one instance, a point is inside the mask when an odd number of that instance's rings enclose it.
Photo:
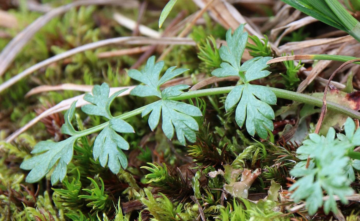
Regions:
[[[160,90],[160,85],[188,69],[170,67],[159,79],[163,66],[163,61],[155,63],[155,56],[152,56],[148,59],[144,70],[129,70],[128,75],[132,79],[145,84],[136,86],[130,91],[130,94],[139,97],[157,96],[161,98],[161,100],[149,104],[141,114],[144,117],[151,112],[148,120],[151,130],[157,127],[162,115],[162,130],[167,138],[174,137],[175,128],[176,137],[181,144],[185,145],[185,138],[190,142],[195,142],[195,131],[199,130],[199,125],[193,117],[202,116],[200,109],[190,104],[168,99],[179,96],[183,93],[183,90],[188,89],[190,86],[180,84]]]

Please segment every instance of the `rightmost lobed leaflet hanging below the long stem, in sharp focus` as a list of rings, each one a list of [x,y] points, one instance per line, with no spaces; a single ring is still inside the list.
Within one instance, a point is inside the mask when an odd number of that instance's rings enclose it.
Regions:
[[[243,126],[246,119],[248,133],[254,136],[255,132],[257,132],[261,138],[266,139],[266,128],[271,131],[274,130],[274,124],[271,119],[275,118],[275,114],[269,105],[276,104],[274,92],[266,86],[239,85],[231,90],[228,97],[226,97],[225,110],[229,111],[237,103],[235,121],[239,127]]]

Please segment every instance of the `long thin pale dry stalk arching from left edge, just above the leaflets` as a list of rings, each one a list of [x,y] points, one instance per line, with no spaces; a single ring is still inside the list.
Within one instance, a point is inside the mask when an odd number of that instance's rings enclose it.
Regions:
[[[110,38],[102,41],[97,41],[89,44],[82,45],[77,48],[73,48],[69,51],[60,53],[53,57],[50,57],[44,61],[37,63],[29,67],[28,69],[20,72],[9,80],[5,81],[0,85],[0,93],[5,89],[9,88],[11,85],[17,83],[23,77],[30,75],[32,72],[39,70],[42,67],[48,66],[54,62],[60,61],[64,58],[70,57],[72,55],[76,55],[77,53],[84,52],[87,50],[92,50],[95,48],[107,46],[109,44],[118,44],[118,43],[126,43],[126,44],[185,44],[185,45],[196,45],[196,43],[191,38],[149,38],[149,37],[118,37],[118,38]],[[0,66],[1,67],[1,66]]]

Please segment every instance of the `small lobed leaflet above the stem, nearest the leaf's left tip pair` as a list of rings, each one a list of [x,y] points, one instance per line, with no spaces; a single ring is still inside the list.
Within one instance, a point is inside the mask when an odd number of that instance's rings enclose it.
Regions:
[[[111,119],[112,115],[110,113],[110,104],[119,94],[125,90],[127,89],[119,90],[109,97],[110,88],[108,84],[103,83],[102,85],[94,85],[93,90],[91,90],[93,95],[84,95],[84,100],[90,102],[91,104],[82,106],[81,110],[89,115],[103,116]]]

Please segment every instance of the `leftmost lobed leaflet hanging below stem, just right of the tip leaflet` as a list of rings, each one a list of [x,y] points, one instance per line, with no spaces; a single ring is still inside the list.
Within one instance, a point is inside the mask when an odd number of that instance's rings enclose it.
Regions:
[[[127,167],[127,159],[122,150],[129,150],[129,143],[119,133],[135,133],[134,128],[122,119],[112,118],[96,137],[94,142],[93,156],[99,159],[100,165],[114,173],[118,173],[121,166]]]

